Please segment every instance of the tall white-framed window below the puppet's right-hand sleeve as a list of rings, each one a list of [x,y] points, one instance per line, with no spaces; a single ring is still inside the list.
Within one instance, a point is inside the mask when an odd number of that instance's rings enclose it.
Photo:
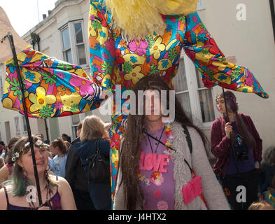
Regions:
[[[173,83],[186,115],[195,125],[209,129],[215,120],[213,90],[204,87],[201,73],[184,52]]]

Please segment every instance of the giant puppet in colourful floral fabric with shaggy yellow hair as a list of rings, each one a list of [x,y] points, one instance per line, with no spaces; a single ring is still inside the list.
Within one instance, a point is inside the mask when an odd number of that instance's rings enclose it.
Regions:
[[[268,94],[248,69],[227,62],[196,13],[197,0],[91,0],[88,25],[90,76],[80,66],[48,57],[27,47],[17,55],[27,97],[28,116],[52,118],[96,109],[103,92],[132,90],[143,76],[157,73],[173,88],[181,50],[202,73],[206,87]],[[120,85],[120,86],[118,86]],[[22,110],[13,59],[6,62],[3,106]],[[112,195],[118,150],[127,113],[116,102],[112,115]]]

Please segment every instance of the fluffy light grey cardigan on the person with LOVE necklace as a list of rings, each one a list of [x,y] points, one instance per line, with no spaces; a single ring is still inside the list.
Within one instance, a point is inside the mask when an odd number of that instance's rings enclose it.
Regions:
[[[206,210],[206,206],[202,199],[198,196],[189,204],[183,203],[183,195],[181,188],[192,180],[192,174],[184,159],[194,170],[196,176],[202,177],[202,195],[206,200],[206,204],[211,210],[230,210],[230,206],[225,198],[223,189],[218,183],[213,169],[209,164],[206,156],[204,144],[199,133],[192,127],[188,127],[190,137],[192,139],[192,155],[188,148],[188,143],[183,133],[183,127],[179,123],[171,123],[171,131],[174,134],[174,141],[171,157],[174,162],[174,180],[175,180],[175,209],[176,210]],[[121,172],[118,172],[118,183],[115,189],[115,197],[113,208],[115,210],[126,209],[124,203],[123,183],[121,183]],[[141,206],[137,205],[138,209]]]

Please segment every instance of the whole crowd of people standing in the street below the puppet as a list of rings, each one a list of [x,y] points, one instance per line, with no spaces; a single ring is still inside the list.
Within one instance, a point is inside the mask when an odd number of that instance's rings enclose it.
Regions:
[[[265,151],[262,161],[262,139],[252,119],[238,113],[232,92],[216,97],[222,116],[211,126],[210,149],[216,157],[211,167],[209,140],[176,96],[175,120],[164,122],[162,109],[169,108],[170,95],[162,105],[160,92],[170,90],[167,83],[157,75],[145,76],[134,93],[140,90],[146,94],[143,104],[136,102],[136,110],[143,106],[145,113],[127,118],[113,209],[275,209],[275,147]],[[8,146],[0,142],[5,161],[0,169],[0,209],[112,209],[111,180],[90,181],[90,167],[85,166],[97,148],[109,160],[110,125],[87,116],[78,123],[77,138],[69,146],[65,134],[50,144],[45,144],[43,134],[32,137],[42,205],[25,200],[28,187],[36,187],[28,137],[13,137]],[[241,202],[238,186],[246,188]]]

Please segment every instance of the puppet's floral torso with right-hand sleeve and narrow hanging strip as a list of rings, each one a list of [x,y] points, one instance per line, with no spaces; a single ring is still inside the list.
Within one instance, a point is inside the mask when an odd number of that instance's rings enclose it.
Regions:
[[[154,34],[143,40],[131,41],[115,29],[111,13],[106,10],[103,2],[90,0],[89,19],[91,78],[102,88],[122,95],[125,90],[132,90],[143,76],[156,73],[173,89],[173,78],[178,71],[181,50],[184,48],[202,72],[206,87],[220,85],[230,90],[255,92],[260,97],[268,97],[248,69],[226,62],[197,13],[186,17],[162,15],[167,25],[162,36]],[[127,108],[125,101],[123,98],[119,102],[113,100],[113,106],[119,110],[114,110],[112,114],[110,130],[112,199],[120,139],[124,132],[123,123],[127,119],[127,113],[123,113],[123,109]]]

